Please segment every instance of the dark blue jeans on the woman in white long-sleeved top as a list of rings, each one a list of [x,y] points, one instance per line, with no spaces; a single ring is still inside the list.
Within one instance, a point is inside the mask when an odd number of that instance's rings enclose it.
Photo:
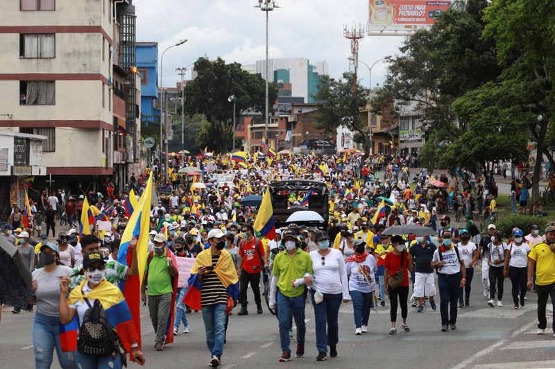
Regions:
[[[319,304],[314,302],[314,289],[310,290],[314,320],[316,325],[316,348],[318,352],[327,352],[327,346],[334,347],[339,341],[339,307],[343,293],[323,293],[324,299]],[[326,333],[327,323],[327,333]]]

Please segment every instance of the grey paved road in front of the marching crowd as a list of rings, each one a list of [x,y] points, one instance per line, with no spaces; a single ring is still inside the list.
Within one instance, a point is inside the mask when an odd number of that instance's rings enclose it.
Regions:
[[[355,336],[352,305],[343,304],[339,314],[339,356],[317,362],[314,314],[307,304],[306,354],[302,359],[279,363],[278,321],[264,311],[262,315],[230,318],[228,343],[221,368],[549,368],[555,367],[555,338],[537,336],[536,295],[530,294],[524,309],[513,310],[511,283],[505,282],[505,306],[490,308],[482,296],[479,271],[472,282],[471,307],[459,311],[456,331],[440,332],[439,310],[422,314],[409,307],[411,333],[387,334],[389,310],[372,312],[367,334]],[[252,295],[250,296],[252,300]],[[164,352],[153,349],[154,333],[148,311],[142,308],[145,368],[205,368],[209,354],[204,341],[201,313],[189,314],[190,334],[179,334]],[[549,314],[551,314],[549,312]],[[400,313],[399,313],[400,315]],[[1,368],[33,368],[31,337],[33,314],[12,316],[3,311],[0,323]],[[399,317],[400,320],[400,317]],[[552,318],[548,317],[548,327]],[[295,345],[291,345],[293,352]],[[53,368],[58,368],[55,359]],[[139,368],[135,363],[130,368]]]

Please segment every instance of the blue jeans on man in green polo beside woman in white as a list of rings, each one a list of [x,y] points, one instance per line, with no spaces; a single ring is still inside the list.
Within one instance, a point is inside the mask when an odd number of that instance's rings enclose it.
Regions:
[[[282,351],[291,352],[289,349],[289,329],[291,329],[291,313],[297,325],[297,344],[305,343],[305,294],[294,298],[288,298],[278,291],[276,302],[278,303],[278,320],[280,322],[280,344]]]

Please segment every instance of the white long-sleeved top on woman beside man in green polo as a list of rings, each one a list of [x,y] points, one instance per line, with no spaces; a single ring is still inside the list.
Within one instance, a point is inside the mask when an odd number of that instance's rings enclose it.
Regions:
[[[343,293],[343,300],[350,300],[347,271],[341,251],[330,248],[330,253],[323,260],[318,251],[312,251],[309,255],[314,271],[311,289],[321,293]],[[322,262],[325,264],[322,265]]]

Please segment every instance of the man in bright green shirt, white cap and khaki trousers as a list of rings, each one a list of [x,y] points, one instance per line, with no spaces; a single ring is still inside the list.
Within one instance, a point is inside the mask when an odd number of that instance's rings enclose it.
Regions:
[[[178,267],[176,256],[167,248],[164,234],[157,234],[154,248],[148,254],[143,282],[141,300],[147,302],[154,327],[156,351],[163,351],[164,344],[173,342],[173,307],[176,305]]]

